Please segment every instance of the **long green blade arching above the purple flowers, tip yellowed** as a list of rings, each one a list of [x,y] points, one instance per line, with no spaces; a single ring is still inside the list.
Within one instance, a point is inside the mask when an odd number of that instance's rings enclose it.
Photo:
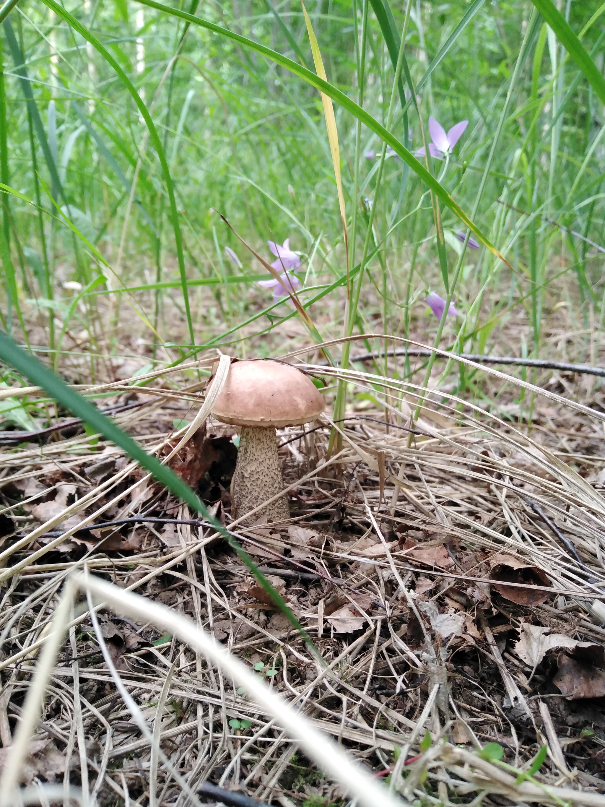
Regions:
[[[56,6],[54,0],[44,0],[44,2],[47,4],[52,3],[53,8]],[[281,53],[278,53],[271,48],[267,48],[265,45],[255,42],[254,40],[250,40],[246,36],[236,34],[234,31],[230,31],[228,28],[215,25],[215,23],[211,23],[207,19],[195,17],[194,15],[187,14],[186,11],[182,11],[180,9],[169,8],[169,6],[164,6],[160,2],[156,2],[156,0],[138,0],[138,2],[140,2],[143,6],[154,8],[164,14],[185,19],[187,22],[194,23],[202,28],[206,28],[207,31],[212,31],[215,34],[219,34],[219,36],[225,36],[227,39],[237,42],[244,48],[249,48],[250,50],[259,53],[261,56],[265,56],[269,60],[275,62],[275,64],[289,70],[290,73],[294,73],[295,76],[303,78],[304,81],[311,84],[311,86],[315,87],[316,90],[320,90],[326,95],[329,95],[332,100],[339,103],[340,106],[346,111],[350,112],[351,115],[361,120],[361,123],[364,123],[365,126],[370,129],[370,131],[378,135],[382,140],[385,141],[387,145],[390,145],[394,152],[396,152],[399,157],[401,157],[402,160],[410,166],[415,174],[417,174],[418,177],[426,183],[426,185],[436,194],[440,201],[443,202],[446,207],[449,207],[453,214],[461,220],[462,224],[465,224],[466,227],[468,227],[469,230],[473,232],[475,236],[477,236],[478,240],[480,240],[482,244],[484,244],[487,249],[490,250],[490,253],[496,257],[499,257],[508,265],[506,258],[499,253],[498,249],[495,249],[487,236],[484,235],[483,232],[478,228],[477,224],[475,224],[474,221],[472,221],[465,213],[465,211],[462,210],[460,205],[455,202],[454,199],[452,199],[447,190],[445,190],[444,186],[442,186],[440,182],[437,182],[436,178],[434,178],[432,174],[428,172],[424,165],[416,160],[414,155],[408,151],[407,148],[405,148],[403,143],[397,140],[396,137],[394,137],[384,126],[382,126],[382,123],[379,123],[378,120],[369,114],[369,112],[359,107],[357,103],[351,100],[351,98],[348,98],[348,95],[344,94],[344,92],[339,90],[337,87],[333,86],[329,82],[324,82],[323,79],[319,78],[319,76],[315,75],[315,73],[312,73],[311,70],[307,70],[307,68],[303,67],[303,65],[298,65],[298,62],[288,59],[287,56],[282,56]],[[59,6],[56,7],[58,8]]]

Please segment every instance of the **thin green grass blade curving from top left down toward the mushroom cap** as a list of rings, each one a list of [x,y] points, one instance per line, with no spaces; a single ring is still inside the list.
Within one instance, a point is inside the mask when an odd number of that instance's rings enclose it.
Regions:
[[[183,295],[183,300],[185,303],[185,314],[187,318],[187,325],[189,327],[189,336],[191,340],[191,344],[193,345],[195,342],[194,337],[194,324],[193,320],[191,319],[191,309],[189,303],[189,293],[187,291],[187,275],[185,270],[185,256],[183,254],[183,244],[182,244],[182,236],[181,236],[181,225],[179,224],[178,220],[178,211],[177,211],[177,200],[174,195],[174,183],[172,177],[170,175],[170,169],[168,165],[168,161],[166,160],[166,155],[164,151],[164,146],[162,145],[160,136],[157,132],[156,125],[153,123],[151,115],[149,115],[148,109],[145,106],[144,102],[141,100],[139,93],[136,91],[136,87],[132,84],[131,80],[127,77],[127,74],[123,71],[120,67],[118,61],[116,61],[115,57],[111,55],[111,53],[105,48],[104,45],[97,39],[96,36],[90,33],[90,31],[83,26],[81,23],[77,21],[75,17],[69,14],[63,6],[60,6],[58,3],[54,2],[54,0],[43,0],[44,5],[48,6],[48,8],[52,9],[57,17],[63,19],[65,23],[72,27],[74,31],[77,31],[80,36],[84,37],[87,42],[95,48],[98,53],[101,54],[103,59],[107,62],[108,65],[111,65],[111,68],[115,70],[115,73],[118,74],[121,82],[126,87],[128,92],[131,94],[136,106],[138,107],[142,118],[144,119],[145,124],[149,130],[149,135],[151,136],[151,140],[153,143],[153,147],[156,149],[157,156],[160,160],[162,174],[164,174],[164,181],[166,184],[166,190],[168,191],[169,196],[169,203],[170,203],[170,219],[173,225],[173,232],[174,232],[174,244],[177,249],[177,260],[178,260],[178,269],[179,273],[181,274],[181,291]]]

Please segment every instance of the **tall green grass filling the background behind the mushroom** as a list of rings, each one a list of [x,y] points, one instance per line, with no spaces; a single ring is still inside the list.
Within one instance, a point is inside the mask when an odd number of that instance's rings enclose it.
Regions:
[[[586,358],[605,299],[598,2],[558,16],[545,0],[309,7],[336,98],[340,205],[302,6],[194,2],[198,19],[158,6],[22,0],[2,23],[0,181],[22,194],[2,193],[2,325],[15,337],[72,373],[79,346],[92,376],[104,354],[273,353],[298,315],[256,285],[265,270],[219,211],[262,257],[290,237],[318,338],[382,330],[538,356],[563,304],[584,332],[570,358]],[[429,115],[469,120],[444,161],[404,161],[375,133],[414,153]],[[494,249],[461,245],[464,214]],[[461,317],[437,324],[429,289]],[[475,381],[462,374],[459,391]]]

